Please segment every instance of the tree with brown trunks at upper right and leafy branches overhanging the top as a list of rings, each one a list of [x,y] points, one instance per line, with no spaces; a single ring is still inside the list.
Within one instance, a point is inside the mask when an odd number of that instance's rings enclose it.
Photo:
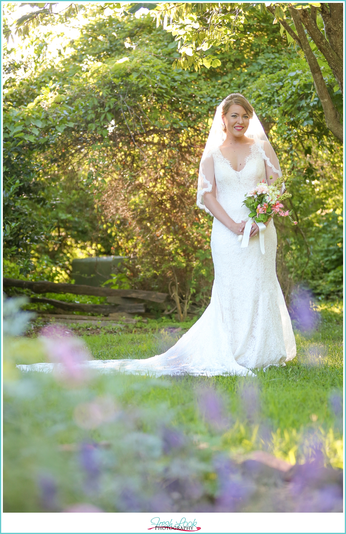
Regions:
[[[21,4],[25,5],[25,4]],[[42,20],[52,17],[51,3],[28,4],[38,10],[23,15],[15,24],[15,33],[27,35],[30,27],[36,27]],[[109,3],[106,9],[121,9],[135,13],[141,7],[153,9],[156,26],[176,36],[180,57],[175,59],[177,68],[200,69],[217,67],[220,46],[229,51],[239,39],[250,38],[251,28],[247,25],[249,13],[254,9],[262,12],[263,3],[139,3],[121,5]],[[323,106],[326,124],[337,139],[343,140],[340,113],[329,95],[321,72],[319,59],[324,59],[331,68],[340,90],[343,92],[343,7],[341,3],[275,3],[265,2],[266,9],[274,15],[274,23],[280,22],[286,30],[287,40],[299,46],[308,62],[317,95]],[[286,17],[289,12],[291,18]],[[69,4],[64,10],[65,20],[78,12],[77,4]],[[169,20],[169,23],[168,23]],[[324,29],[321,29],[323,25]],[[246,27],[246,28],[245,28]],[[249,31],[248,31],[249,30]],[[5,21],[4,35],[9,40],[11,29]],[[324,35],[325,34],[325,35]],[[127,43],[128,46],[131,43]],[[213,48],[213,52],[205,52]],[[322,56],[316,54],[318,50]],[[315,53],[314,53],[315,52]]]

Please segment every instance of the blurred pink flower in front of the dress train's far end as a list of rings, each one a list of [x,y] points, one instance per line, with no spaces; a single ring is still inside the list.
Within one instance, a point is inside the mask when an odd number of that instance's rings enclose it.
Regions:
[[[86,379],[86,370],[81,364],[90,358],[90,354],[81,339],[73,337],[70,331],[60,325],[43,328],[41,336],[51,362],[62,365],[64,378],[72,382]]]

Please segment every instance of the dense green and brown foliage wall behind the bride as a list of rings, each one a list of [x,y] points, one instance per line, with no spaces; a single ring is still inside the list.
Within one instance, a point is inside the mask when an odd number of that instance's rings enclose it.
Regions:
[[[23,133],[34,142],[19,146],[26,166],[4,176],[5,257],[33,263],[30,277],[62,280],[73,257],[127,255],[127,278],[116,285],[176,287],[182,305],[205,307],[212,219],[195,206],[196,174],[215,107],[240,91],[276,147],[293,194],[289,209],[298,225],[276,223],[281,286],[288,295],[306,280],[320,295],[341,295],[341,146],[326,129],[306,62],[282,49],[271,15],[251,11],[247,24],[250,34],[220,50],[222,65],[200,74],[171,69],[164,58],[177,57],[176,44],[149,15],[106,17],[95,6],[85,12],[80,37],[65,42],[54,60],[40,36],[26,38],[33,43],[25,60],[32,81],[20,75],[10,50],[6,132],[15,113],[46,122],[28,122]],[[332,90],[334,78],[322,69]],[[340,91],[333,101],[341,110]],[[9,165],[17,159],[9,156]],[[16,180],[26,184],[25,194],[11,190]],[[20,217],[24,224],[16,226]]]

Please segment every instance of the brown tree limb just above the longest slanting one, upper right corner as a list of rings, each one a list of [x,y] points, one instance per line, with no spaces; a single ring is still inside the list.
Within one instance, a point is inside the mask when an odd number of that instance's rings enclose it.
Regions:
[[[314,21],[307,9],[299,10],[301,21],[303,22],[306,31],[316,44],[318,50],[323,53],[329,67],[335,76],[341,92],[343,93],[343,64],[342,60],[337,56],[332,46],[328,43],[324,35],[320,32],[316,21]]]

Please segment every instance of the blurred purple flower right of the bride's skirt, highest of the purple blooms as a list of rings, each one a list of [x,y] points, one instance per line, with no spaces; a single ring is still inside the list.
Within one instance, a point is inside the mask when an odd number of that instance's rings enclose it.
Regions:
[[[307,288],[296,286],[290,297],[289,315],[294,326],[302,331],[313,330],[319,322],[319,314],[312,307],[313,295]]]

